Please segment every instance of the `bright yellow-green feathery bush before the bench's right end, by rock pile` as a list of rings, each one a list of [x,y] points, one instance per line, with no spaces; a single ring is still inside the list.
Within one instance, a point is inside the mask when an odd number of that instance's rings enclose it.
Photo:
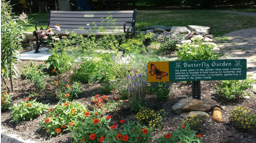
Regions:
[[[123,50],[126,54],[146,52],[146,47],[143,44],[143,41],[147,38],[152,38],[152,36],[152,34],[140,33],[132,38],[126,38],[121,42],[121,50]]]

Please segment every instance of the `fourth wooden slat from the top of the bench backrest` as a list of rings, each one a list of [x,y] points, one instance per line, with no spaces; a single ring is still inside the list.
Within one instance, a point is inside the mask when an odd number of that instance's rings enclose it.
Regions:
[[[93,25],[92,23],[94,22],[70,22],[70,21],[50,21],[50,24],[59,24],[60,27],[62,27],[62,25],[86,25],[86,24],[90,24]],[[107,22],[95,22],[94,24],[96,25],[111,25],[111,23],[107,23]],[[116,22],[115,25],[124,25],[124,22]],[[127,23],[126,25],[132,25],[130,23]]]

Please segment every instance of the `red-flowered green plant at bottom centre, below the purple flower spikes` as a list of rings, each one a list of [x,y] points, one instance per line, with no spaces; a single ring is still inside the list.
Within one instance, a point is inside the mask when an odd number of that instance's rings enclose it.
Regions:
[[[124,122],[124,120],[120,120],[120,123],[123,123],[122,121]],[[113,125],[110,127],[110,131],[108,130],[104,140],[106,143],[150,143],[149,139],[153,136],[149,135],[151,132],[150,128],[141,126],[136,121],[130,122],[127,120],[127,124],[121,125],[117,130],[114,129],[116,126]]]

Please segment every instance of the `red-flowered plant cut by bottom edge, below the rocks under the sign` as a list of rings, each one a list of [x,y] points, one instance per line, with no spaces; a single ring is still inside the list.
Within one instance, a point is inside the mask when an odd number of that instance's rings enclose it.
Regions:
[[[166,135],[156,139],[158,143],[203,143],[202,135],[197,134],[197,131],[191,130],[190,125],[181,127],[180,130],[177,128],[172,133],[167,133]]]

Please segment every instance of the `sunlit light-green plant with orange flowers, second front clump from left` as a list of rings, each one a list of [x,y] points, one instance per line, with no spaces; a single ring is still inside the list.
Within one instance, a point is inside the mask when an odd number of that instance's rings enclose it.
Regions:
[[[84,120],[85,113],[89,113],[87,106],[76,102],[59,102],[46,113],[46,117],[41,122],[41,128],[51,135],[59,134],[68,130],[74,125],[76,120]],[[100,113],[100,112],[99,112]],[[92,113],[89,113],[92,115]]]

